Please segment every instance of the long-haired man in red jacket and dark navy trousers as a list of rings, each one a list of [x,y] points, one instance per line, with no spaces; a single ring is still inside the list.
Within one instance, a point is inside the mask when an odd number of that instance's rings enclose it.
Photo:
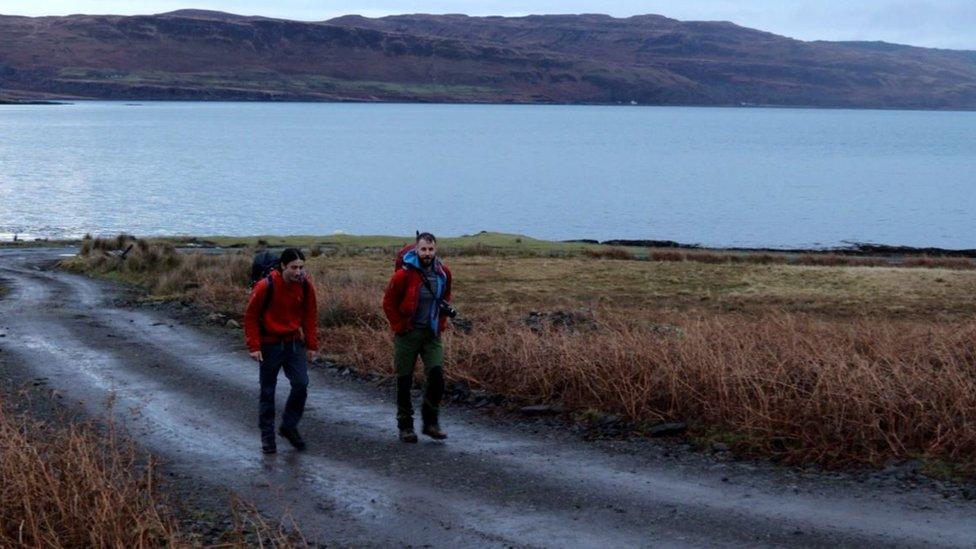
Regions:
[[[258,426],[261,449],[277,451],[274,436],[275,387],[282,368],[291,382],[278,433],[296,450],[305,449],[298,420],[308,396],[308,361],[318,350],[315,287],[305,272],[305,255],[297,248],[281,252],[280,266],[258,281],[244,312],[244,336],[251,358],[261,365]]]

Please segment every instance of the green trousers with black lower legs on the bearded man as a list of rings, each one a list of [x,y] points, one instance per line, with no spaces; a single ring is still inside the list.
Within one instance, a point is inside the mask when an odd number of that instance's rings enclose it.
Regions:
[[[419,356],[427,377],[424,403],[420,408],[424,425],[437,425],[437,414],[444,396],[444,344],[430,328],[418,328],[398,334],[394,341],[393,360],[397,373],[397,426],[413,427],[413,371]]]

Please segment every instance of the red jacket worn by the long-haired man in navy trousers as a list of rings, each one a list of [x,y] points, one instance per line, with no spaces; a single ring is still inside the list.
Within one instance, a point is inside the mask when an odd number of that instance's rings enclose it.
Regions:
[[[305,348],[317,351],[319,348],[315,324],[318,320],[318,307],[315,299],[315,285],[311,279],[302,284],[286,282],[281,272],[271,272],[274,288],[271,303],[264,309],[268,292],[268,279],[262,278],[251,290],[251,298],[244,311],[244,338],[251,352],[260,351],[262,343],[293,341],[305,334]],[[307,303],[304,301],[307,299]]]

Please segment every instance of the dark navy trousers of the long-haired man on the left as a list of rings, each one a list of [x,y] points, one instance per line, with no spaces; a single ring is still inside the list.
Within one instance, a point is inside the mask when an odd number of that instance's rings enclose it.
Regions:
[[[262,435],[274,436],[274,393],[278,385],[278,372],[285,370],[291,382],[291,392],[281,416],[281,428],[298,426],[308,398],[308,366],[305,363],[305,345],[301,341],[261,345],[261,399],[258,407],[258,426]]]

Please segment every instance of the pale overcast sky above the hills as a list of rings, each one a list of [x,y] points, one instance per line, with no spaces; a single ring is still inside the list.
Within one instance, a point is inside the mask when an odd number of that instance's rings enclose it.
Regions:
[[[682,20],[732,21],[801,40],[884,40],[976,50],[976,0],[0,0],[4,15],[151,14],[180,8],[321,21],[358,13],[527,15],[657,13]]]

